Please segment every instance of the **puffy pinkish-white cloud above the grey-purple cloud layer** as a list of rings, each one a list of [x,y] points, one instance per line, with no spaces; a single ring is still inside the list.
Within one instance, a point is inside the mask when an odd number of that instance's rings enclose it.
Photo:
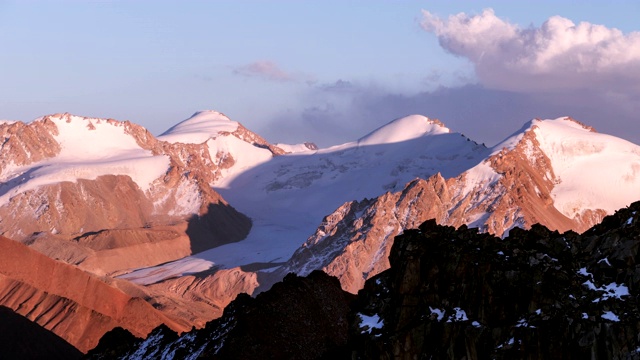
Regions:
[[[487,9],[441,19],[423,10],[422,27],[452,54],[468,58],[485,86],[511,91],[601,87],[640,91],[640,32],[553,16],[520,28]]]

